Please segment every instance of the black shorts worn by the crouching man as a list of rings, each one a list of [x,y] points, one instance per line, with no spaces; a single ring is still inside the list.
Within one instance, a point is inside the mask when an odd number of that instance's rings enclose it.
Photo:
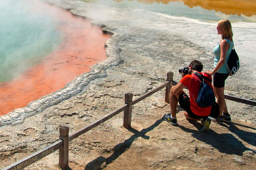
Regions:
[[[187,96],[187,94],[185,93],[182,93],[180,94],[179,96],[179,104],[181,106],[181,108],[183,108],[188,114],[189,114],[189,117],[190,118],[204,118],[205,116],[198,116],[198,115],[195,115],[191,109],[190,109],[190,98],[189,96]],[[211,113],[210,117],[213,117],[213,118],[217,118],[218,115],[220,115],[220,107],[219,105],[215,102],[213,105],[212,105],[212,110],[211,110]],[[208,117],[207,116],[207,117]]]

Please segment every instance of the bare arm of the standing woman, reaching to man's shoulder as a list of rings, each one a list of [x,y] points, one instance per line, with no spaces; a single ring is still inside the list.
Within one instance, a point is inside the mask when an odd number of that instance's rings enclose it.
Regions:
[[[226,40],[221,40],[220,42],[220,60],[218,61],[216,67],[213,71],[206,71],[207,74],[213,75],[223,66],[226,60],[226,52],[229,49],[229,43]]]

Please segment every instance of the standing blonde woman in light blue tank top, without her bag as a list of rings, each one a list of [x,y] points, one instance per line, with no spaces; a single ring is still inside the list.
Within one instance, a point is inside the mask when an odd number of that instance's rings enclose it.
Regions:
[[[213,91],[217,97],[217,103],[220,106],[220,115],[217,118],[210,119],[217,123],[223,123],[223,121],[231,121],[224,99],[225,80],[229,76],[226,63],[228,62],[228,58],[234,45],[230,21],[228,21],[228,19],[218,21],[217,31],[218,34],[222,35],[222,39],[213,50],[213,53],[215,54],[214,69],[213,71],[207,71],[207,73],[213,75]]]

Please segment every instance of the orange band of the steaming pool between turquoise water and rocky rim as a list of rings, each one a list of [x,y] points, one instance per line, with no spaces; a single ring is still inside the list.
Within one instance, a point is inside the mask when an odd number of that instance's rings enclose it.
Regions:
[[[107,58],[105,41],[110,37],[90,21],[77,18],[69,11],[30,0],[36,7],[33,12],[57,17],[57,30],[63,42],[41,63],[27,69],[10,83],[0,83],[0,115],[57,91],[76,76],[89,72],[90,66]]]

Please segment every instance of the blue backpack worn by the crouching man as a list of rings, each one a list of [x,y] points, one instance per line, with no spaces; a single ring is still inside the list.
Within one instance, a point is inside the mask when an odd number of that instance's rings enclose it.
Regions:
[[[207,83],[204,82],[204,79],[209,81],[210,83],[212,83],[212,80],[197,72],[194,72],[193,76],[195,76],[201,82],[199,86],[197,100],[195,100],[194,96],[192,95],[195,102],[199,107],[212,106],[215,103],[215,95],[213,93],[212,88]]]

